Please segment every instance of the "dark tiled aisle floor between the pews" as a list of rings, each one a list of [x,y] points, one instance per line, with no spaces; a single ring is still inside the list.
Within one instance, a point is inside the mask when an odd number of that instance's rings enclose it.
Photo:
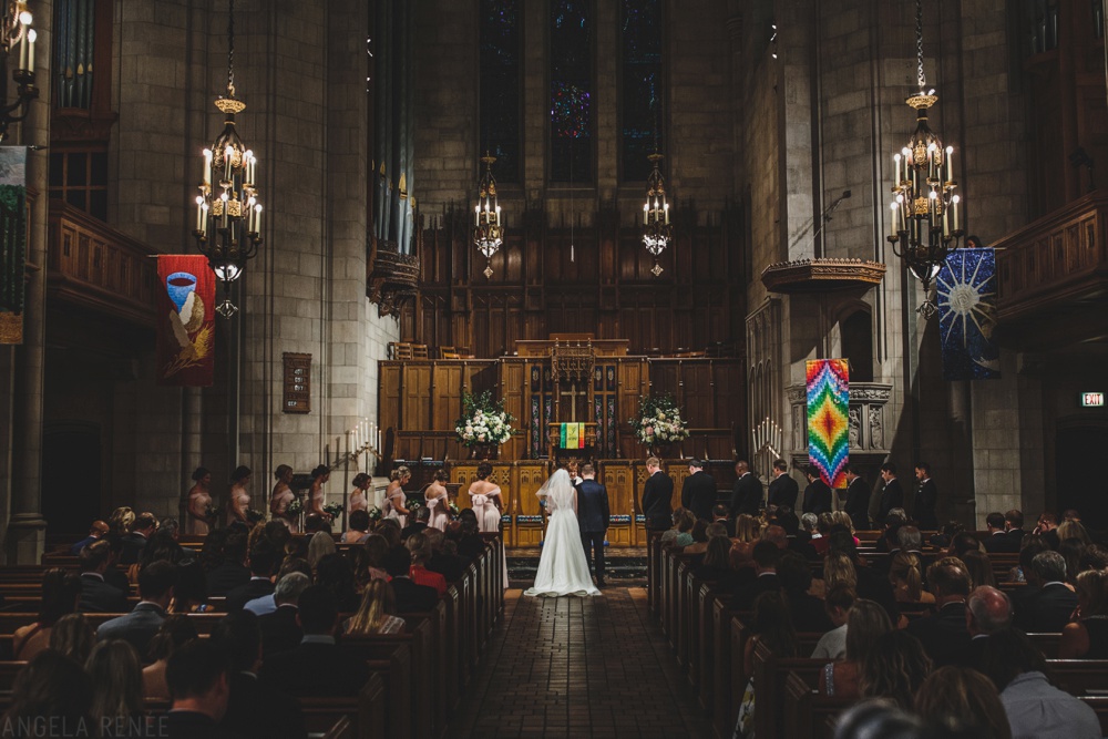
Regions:
[[[463,692],[449,737],[709,737],[708,719],[646,591],[596,598],[505,594],[504,619]]]

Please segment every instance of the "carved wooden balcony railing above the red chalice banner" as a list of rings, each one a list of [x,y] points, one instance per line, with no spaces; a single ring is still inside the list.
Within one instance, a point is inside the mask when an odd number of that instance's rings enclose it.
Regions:
[[[62,201],[50,202],[49,298],[154,325],[155,252]]]

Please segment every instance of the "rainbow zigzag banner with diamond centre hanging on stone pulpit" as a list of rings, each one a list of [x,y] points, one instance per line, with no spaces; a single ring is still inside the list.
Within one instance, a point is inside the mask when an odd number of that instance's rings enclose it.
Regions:
[[[849,379],[845,359],[808,361],[808,461],[831,487],[847,486]]]

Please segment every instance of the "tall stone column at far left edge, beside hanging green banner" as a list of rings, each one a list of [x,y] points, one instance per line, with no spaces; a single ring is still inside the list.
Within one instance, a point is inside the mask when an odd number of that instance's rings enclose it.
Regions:
[[[28,122],[21,125],[17,141],[25,145],[50,143],[50,20],[52,0],[35,3],[35,80],[40,96],[31,104]],[[28,270],[27,300],[23,309],[23,346],[17,350],[17,393],[14,429],[19,441],[13,448],[17,462],[11,491],[11,519],[8,521],[6,552],[8,564],[38,564],[45,544],[47,522],[42,517],[42,390],[45,380],[47,338],[47,226],[49,220],[47,154],[28,152],[27,187],[35,197],[28,223],[27,260],[37,269]],[[14,438],[14,435],[13,435]]]

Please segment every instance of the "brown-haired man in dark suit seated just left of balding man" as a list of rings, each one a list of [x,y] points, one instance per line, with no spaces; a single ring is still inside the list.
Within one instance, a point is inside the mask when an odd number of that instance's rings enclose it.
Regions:
[[[910,622],[906,630],[923,643],[935,665],[968,665],[970,632],[966,601],[972,589],[965,564],[944,557],[927,568],[935,613]]]

